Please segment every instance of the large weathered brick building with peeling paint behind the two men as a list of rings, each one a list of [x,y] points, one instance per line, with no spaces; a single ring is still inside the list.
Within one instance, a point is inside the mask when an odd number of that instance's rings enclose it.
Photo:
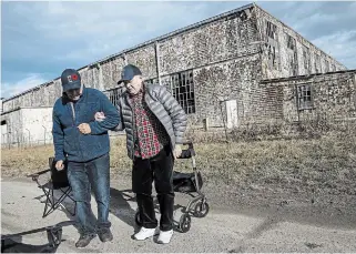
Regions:
[[[336,81],[333,82],[338,87],[344,83],[338,83],[337,79],[355,77],[355,72],[346,71],[343,64],[256,4],[146,41],[82,67],[79,72],[85,85],[106,91],[114,102],[116,81],[126,63],[140,67],[146,82],[166,85],[189,113],[192,124],[200,125],[208,119],[212,125],[222,125],[223,120],[227,120],[228,128],[289,118],[287,112],[293,115],[301,110],[313,110],[312,106],[302,109],[301,103],[313,104],[312,95],[318,95],[317,92],[323,95],[325,89],[318,83],[318,89],[312,93],[309,81],[314,79],[311,77],[334,73],[332,77]],[[291,77],[302,83],[309,77],[308,85],[288,87],[286,80]],[[355,78],[350,80],[355,88]],[[342,91],[347,89],[340,88]],[[289,93],[298,96],[294,105]],[[354,96],[355,89],[348,93]],[[3,101],[2,123],[6,121],[9,131],[11,123],[7,122],[7,112],[52,106],[60,95],[58,78],[9,98]],[[345,112],[350,111],[347,106],[350,104],[344,104]]]

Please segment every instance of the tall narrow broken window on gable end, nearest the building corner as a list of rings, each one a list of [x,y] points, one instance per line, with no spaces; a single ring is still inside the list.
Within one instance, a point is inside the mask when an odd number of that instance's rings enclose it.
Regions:
[[[269,65],[278,69],[279,52],[278,52],[278,42],[277,42],[277,26],[267,21],[266,34],[267,34],[268,63]]]

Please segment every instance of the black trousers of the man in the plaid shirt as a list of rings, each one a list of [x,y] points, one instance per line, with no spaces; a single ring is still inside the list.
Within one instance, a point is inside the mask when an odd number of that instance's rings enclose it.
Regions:
[[[136,194],[142,225],[146,228],[157,226],[152,197],[153,181],[160,203],[160,230],[170,231],[173,228],[173,165],[174,159],[170,145],[164,146],[154,158],[145,160],[135,158],[133,160],[132,190]]]

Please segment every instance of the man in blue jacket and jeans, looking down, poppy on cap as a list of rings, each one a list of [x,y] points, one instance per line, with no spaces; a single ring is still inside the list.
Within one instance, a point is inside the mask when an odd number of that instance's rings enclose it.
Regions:
[[[80,238],[85,247],[99,235],[102,242],[113,238],[110,231],[110,141],[108,130],[120,123],[115,106],[99,90],[85,88],[79,72],[67,69],[61,75],[63,94],[53,106],[53,143],[55,167],[68,162],[68,179],[77,201]],[[105,113],[98,122],[94,114]],[[98,221],[92,214],[91,189],[98,204]]]

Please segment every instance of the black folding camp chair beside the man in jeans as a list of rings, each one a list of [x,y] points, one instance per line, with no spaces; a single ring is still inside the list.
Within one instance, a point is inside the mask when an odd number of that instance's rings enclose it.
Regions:
[[[64,169],[58,171],[55,169],[54,158],[49,158],[49,170],[44,170],[34,174],[28,175],[32,177],[33,181],[37,182],[38,187],[40,187],[45,195],[45,204],[42,217],[45,217],[59,206],[64,207],[72,216],[75,215],[77,203],[73,197],[70,195],[72,192],[72,187],[69,184],[69,180],[67,176],[68,164],[64,163]],[[55,191],[60,192],[60,197],[55,197]],[[64,200],[69,197],[74,203],[74,211],[71,212],[63,203]]]

